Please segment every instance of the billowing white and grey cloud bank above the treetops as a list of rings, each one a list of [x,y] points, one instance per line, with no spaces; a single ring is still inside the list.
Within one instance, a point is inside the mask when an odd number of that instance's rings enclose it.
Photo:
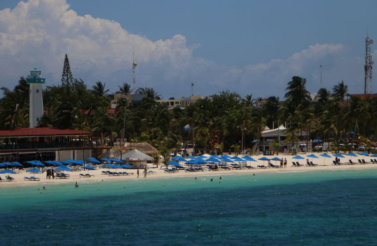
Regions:
[[[199,45],[187,45],[180,34],[152,41],[117,22],[79,16],[65,0],[29,0],[0,11],[0,84],[12,88],[34,67],[42,70],[47,84],[59,84],[67,53],[75,77],[89,86],[101,80],[114,92],[116,85],[132,83],[133,46],[137,85],[153,87],[165,97],[188,95],[191,82],[198,94],[228,89],[242,95],[282,96],[294,75],[306,77],[309,90],[316,92],[320,64],[323,86],[331,89],[344,80],[351,92],[362,91],[363,59],[349,56],[343,44],[314,44],[286,59],[224,66],[194,57]]]

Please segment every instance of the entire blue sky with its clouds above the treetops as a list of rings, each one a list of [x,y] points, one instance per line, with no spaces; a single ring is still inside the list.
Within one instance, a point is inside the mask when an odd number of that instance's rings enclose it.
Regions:
[[[363,93],[376,10],[373,0],[1,0],[0,86],[34,68],[59,85],[68,54],[74,77],[116,92],[132,85],[134,47],[136,87],[165,99],[189,96],[191,83],[196,95],[282,99],[293,76],[312,93],[342,80]]]

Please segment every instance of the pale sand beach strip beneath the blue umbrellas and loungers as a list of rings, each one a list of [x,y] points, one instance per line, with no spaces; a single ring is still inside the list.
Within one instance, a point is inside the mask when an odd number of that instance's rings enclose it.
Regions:
[[[318,154],[315,154],[319,156]],[[330,154],[331,155],[331,154]],[[258,159],[262,157],[263,155],[259,156],[252,156],[254,159]],[[300,156],[303,156],[305,158],[306,154],[301,154]],[[266,156],[268,158],[273,158],[276,157],[274,156]],[[155,178],[166,178],[166,177],[200,177],[200,176],[224,176],[224,175],[237,175],[237,174],[257,174],[257,173],[282,173],[282,172],[303,172],[303,171],[315,171],[315,170],[341,170],[341,169],[372,169],[372,168],[377,168],[377,164],[356,164],[356,165],[332,165],[332,161],[335,160],[334,158],[325,158],[319,156],[319,158],[308,158],[309,161],[313,161],[313,163],[318,164],[318,166],[315,167],[309,167],[309,166],[303,166],[303,167],[293,167],[292,166],[292,161],[299,161],[300,164],[306,164],[306,159],[303,160],[297,160],[297,159],[292,159],[294,155],[284,155],[284,154],[279,154],[277,157],[279,158],[286,158],[288,161],[287,168],[266,168],[266,169],[242,169],[242,170],[228,170],[228,171],[204,171],[204,172],[185,172],[184,170],[180,170],[177,173],[165,173],[164,168],[165,166],[163,165],[163,168],[160,169],[160,166],[158,168],[149,168],[148,170],[156,171],[156,174],[148,175],[147,179],[155,179]],[[346,158],[341,158],[341,162],[348,162],[348,159],[351,159],[350,156],[345,156]],[[352,157],[353,162],[357,162],[357,159],[362,159],[363,156],[358,156],[358,157]],[[371,158],[366,157],[365,160],[369,161]],[[280,165],[278,161],[272,161],[274,165]],[[253,161],[248,161],[248,165],[251,165],[253,167],[257,167],[257,165],[265,165],[267,166],[267,161],[263,163],[263,161],[258,160],[257,162]],[[75,182],[101,182],[102,180],[105,181],[112,181],[112,180],[135,180],[137,179],[137,170],[130,170],[130,169],[123,169],[123,170],[115,170],[115,169],[110,169],[112,172],[133,172],[134,175],[129,175],[129,176],[108,176],[108,175],[103,175],[101,174],[101,171],[107,171],[108,169],[98,169],[98,170],[90,170],[89,174],[95,175],[95,177],[91,178],[80,178],[80,174],[87,174],[87,170],[82,170],[80,172],[64,172],[66,174],[70,174],[69,179],[51,179],[47,180],[46,179],[46,173],[41,173],[41,174],[29,174],[27,172],[22,172],[19,174],[0,174],[0,177],[2,179],[5,179],[6,175],[9,175],[15,179],[14,182],[0,182],[0,188],[5,187],[5,186],[18,186],[18,185],[41,185],[41,186],[46,186],[48,184],[60,184],[60,183],[72,183],[74,184]],[[144,179],[143,175],[143,170],[139,169],[139,179]],[[37,177],[40,178],[40,181],[25,181],[24,177]]]

